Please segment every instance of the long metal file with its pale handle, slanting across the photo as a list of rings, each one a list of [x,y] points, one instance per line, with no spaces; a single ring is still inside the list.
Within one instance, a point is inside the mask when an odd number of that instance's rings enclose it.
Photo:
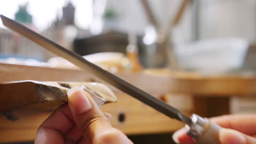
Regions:
[[[142,103],[153,107],[153,109],[158,110],[166,116],[175,118],[178,121],[187,124],[187,127],[189,127],[189,135],[193,136],[193,138],[197,142],[200,143],[202,141],[206,143],[218,143],[218,137],[216,137],[218,136],[218,129],[216,129],[217,126],[213,122],[208,121],[207,119],[203,121],[203,118],[197,115],[193,115],[191,117],[191,120],[189,117],[183,115],[183,113],[181,113],[179,110],[166,104],[164,101],[155,98],[153,95],[142,91],[141,89],[131,85],[130,83],[120,79],[119,77],[98,67],[97,65],[86,61],[86,59],[77,55],[77,53],[65,49],[64,47],[54,43],[53,41],[43,37],[42,35],[33,32],[31,29],[22,26],[20,23],[9,19],[8,17],[5,17],[3,15],[0,15],[0,17],[6,27],[12,29],[15,32],[18,32],[21,35],[24,35],[26,38],[32,40],[34,43],[40,46],[43,46],[45,49],[48,49],[56,55],[66,58],[68,61],[77,65],[79,68],[88,71],[92,75],[95,75],[96,77],[104,80],[110,85],[131,95],[139,101],[142,101]]]

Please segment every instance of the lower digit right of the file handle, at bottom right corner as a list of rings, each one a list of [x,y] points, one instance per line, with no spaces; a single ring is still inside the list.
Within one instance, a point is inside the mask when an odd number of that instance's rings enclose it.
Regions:
[[[222,128],[219,130],[219,141],[222,144],[252,144],[256,139],[252,136],[242,134],[236,130]]]

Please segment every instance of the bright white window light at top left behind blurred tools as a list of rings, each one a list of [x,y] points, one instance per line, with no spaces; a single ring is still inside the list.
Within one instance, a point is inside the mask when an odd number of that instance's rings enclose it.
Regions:
[[[28,3],[28,13],[33,16],[33,23],[39,31],[48,28],[56,17],[62,17],[62,7],[69,1],[64,0],[9,0],[0,4],[0,14],[14,19],[19,5]],[[87,29],[92,21],[92,0],[72,0],[75,7],[75,24],[83,29]],[[0,27],[4,27],[0,22]]]

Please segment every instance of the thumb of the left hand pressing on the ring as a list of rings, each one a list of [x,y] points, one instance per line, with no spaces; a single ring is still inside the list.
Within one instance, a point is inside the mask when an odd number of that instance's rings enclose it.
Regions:
[[[82,90],[68,92],[68,106],[75,124],[83,131],[84,143],[131,143],[121,131],[111,126],[88,93]]]

